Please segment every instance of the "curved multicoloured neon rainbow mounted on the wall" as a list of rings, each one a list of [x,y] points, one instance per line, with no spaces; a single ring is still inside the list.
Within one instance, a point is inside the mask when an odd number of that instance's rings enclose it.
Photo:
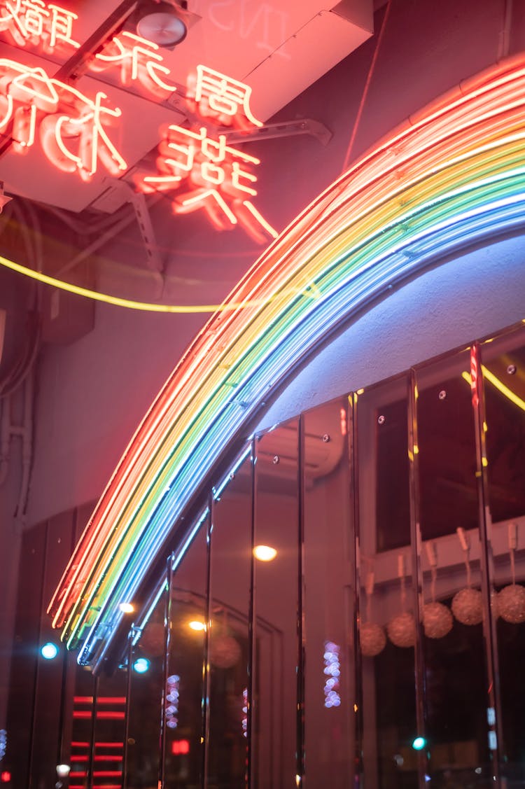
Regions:
[[[174,369],[77,545],[49,610],[80,662],[268,391],[390,286],[523,226],[524,208],[522,56],[410,118],[291,223]]]

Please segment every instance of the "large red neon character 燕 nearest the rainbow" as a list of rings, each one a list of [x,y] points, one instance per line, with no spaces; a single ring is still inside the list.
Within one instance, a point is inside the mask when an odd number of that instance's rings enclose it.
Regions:
[[[145,192],[152,192],[179,189],[186,182],[190,189],[178,193],[172,201],[176,214],[203,208],[217,230],[240,224],[258,243],[265,240],[261,228],[277,236],[249,200],[257,195],[257,176],[249,166],[260,160],[231,148],[225,135],[213,140],[204,126],[192,131],[171,125],[159,153],[159,174],[144,177],[139,185]]]

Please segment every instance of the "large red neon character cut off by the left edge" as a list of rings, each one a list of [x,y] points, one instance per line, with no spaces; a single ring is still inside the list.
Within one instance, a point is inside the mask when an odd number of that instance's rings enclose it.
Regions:
[[[89,99],[42,68],[6,58],[0,58],[0,80],[6,90],[0,95],[0,132],[11,129],[15,151],[31,148],[38,129],[44,154],[59,170],[89,180],[99,160],[111,174],[127,169],[104,125],[122,113],[104,106],[105,93]]]

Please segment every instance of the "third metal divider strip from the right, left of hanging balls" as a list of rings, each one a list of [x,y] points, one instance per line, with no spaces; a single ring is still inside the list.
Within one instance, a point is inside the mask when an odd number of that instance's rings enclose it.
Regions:
[[[350,464],[350,490],[349,494],[354,499],[353,526],[354,555],[354,776],[352,786],[364,786],[364,765],[363,765],[363,694],[362,694],[362,655],[359,626],[361,624],[361,600],[359,597],[361,589],[361,562],[360,562],[360,528],[359,528],[359,473],[358,473],[358,394],[352,392],[348,397],[347,408],[347,428],[348,441],[348,461]],[[352,511],[352,508],[351,508]]]

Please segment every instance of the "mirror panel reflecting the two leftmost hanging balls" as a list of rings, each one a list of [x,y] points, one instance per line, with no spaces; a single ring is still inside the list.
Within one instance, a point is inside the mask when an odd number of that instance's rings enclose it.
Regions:
[[[418,786],[407,381],[357,398],[364,783]],[[388,638],[385,637],[388,634]]]

